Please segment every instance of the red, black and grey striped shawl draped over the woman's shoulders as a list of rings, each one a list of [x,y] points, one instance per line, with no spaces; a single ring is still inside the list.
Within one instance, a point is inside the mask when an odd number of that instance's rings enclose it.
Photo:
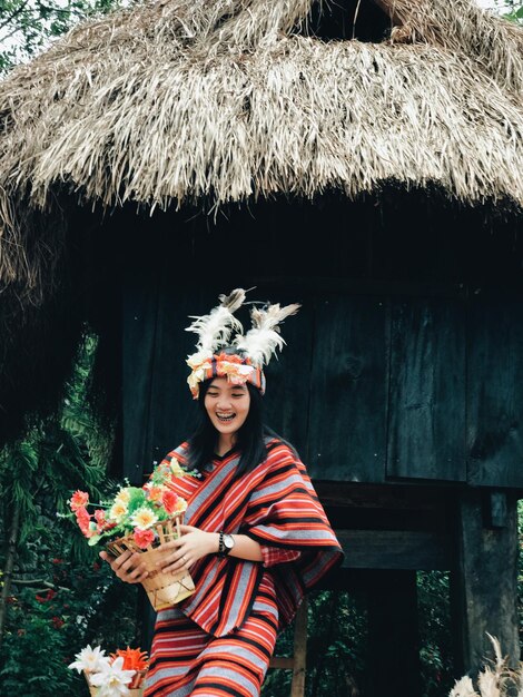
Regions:
[[[187,464],[188,444],[169,453]],[[267,459],[236,477],[239,453],[215,459],[203,480],[172,480],[188,500],[186,521],[208,532],[248,534],[263,547],[276,581],[280,628],[294,617],[304,593],[342,560],[341,546],[318,501],[305,465],[287,444],[267,442]],[[282,562],[275,563],[282,550]],[[290,560],[289,552],[299,552]],[[267,565],[268,561],[268,565]],[[264,573],[264,565],[210,556],[190,570],[196,592],[181,609],[208,634],[225,636],[241,626]]]

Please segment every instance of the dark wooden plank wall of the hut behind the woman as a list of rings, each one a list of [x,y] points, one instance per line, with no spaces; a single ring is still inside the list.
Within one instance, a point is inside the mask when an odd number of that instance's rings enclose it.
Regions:
[[[477,212],[409,212],[320,202],[135,218],[122,256],[126,473],[140,479],[190,432],[184,327],[243,285],[303,303],[266,371],[266,412],[315,479],[523,487],[517,230],[478,225]]]

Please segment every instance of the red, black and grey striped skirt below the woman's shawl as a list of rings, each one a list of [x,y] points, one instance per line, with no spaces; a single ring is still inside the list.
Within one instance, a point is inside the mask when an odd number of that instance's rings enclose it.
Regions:
[[[226,637],[208,635],[176,607],[158,612],[145,697],[259,697],[277,626],[269,573],[247,620]]]

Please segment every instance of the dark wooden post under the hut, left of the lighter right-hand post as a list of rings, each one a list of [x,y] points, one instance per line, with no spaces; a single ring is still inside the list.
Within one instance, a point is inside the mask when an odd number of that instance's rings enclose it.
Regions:
[[[376,572],[368,592],[369,695],[421,697],[415,571]]]

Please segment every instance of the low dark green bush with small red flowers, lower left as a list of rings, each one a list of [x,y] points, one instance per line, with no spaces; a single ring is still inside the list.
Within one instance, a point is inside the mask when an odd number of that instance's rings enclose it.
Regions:
[[[138,646],[137,588],[122,587],[105,563],[69,561],[62,543],[57,538],[50,547],[32,546],[24,576],[38,576],[41,583],[20,585],[23,589],[10,596],[1,695],[87,695],[83,678],[68,668],[75,654],[87,644],[108,651]]]

